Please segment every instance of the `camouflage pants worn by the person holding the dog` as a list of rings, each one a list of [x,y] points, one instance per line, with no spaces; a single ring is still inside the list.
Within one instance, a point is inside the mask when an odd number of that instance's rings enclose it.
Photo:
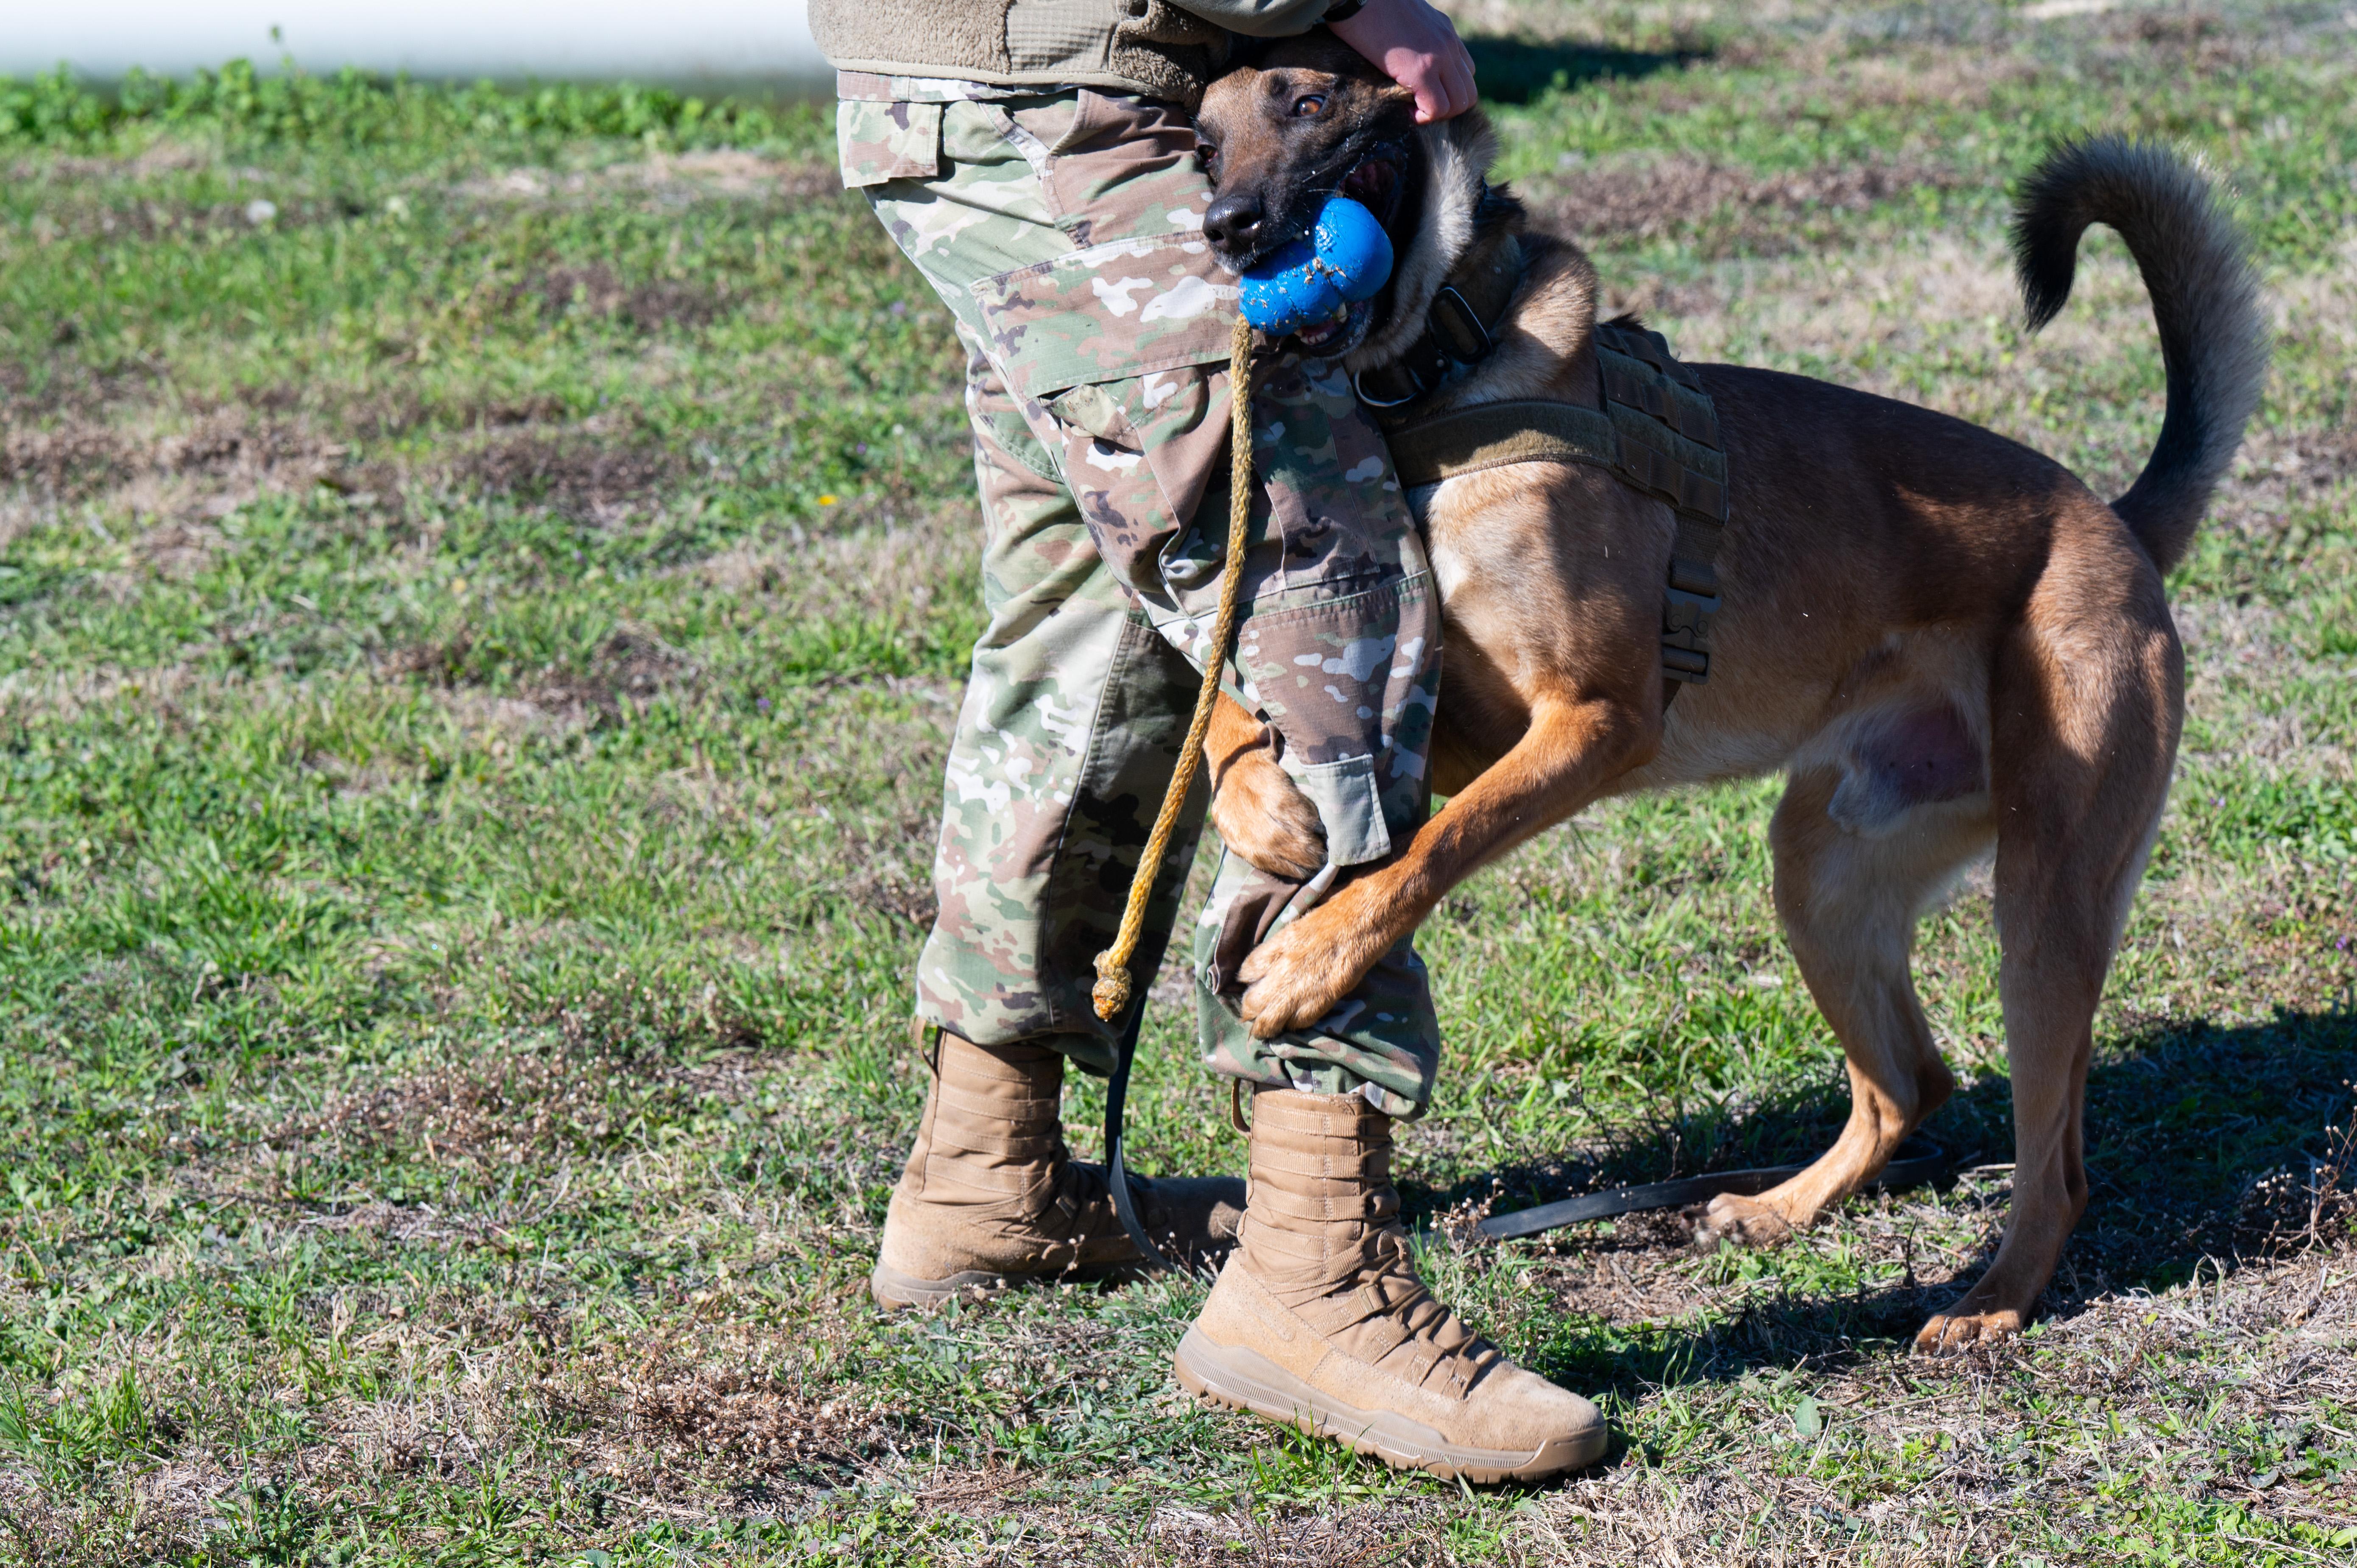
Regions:
[[[1178,762],[1226,552],[1235,285],[1202,241],[1195,132],[1169,104],[1091,90],[846,73],[841,99],[844,184],[865,189],[966,347],[988,531],[990,630],[950,747],[919,1016],[1105,1070],[1094,957]],[[1329,863],[1379,861],[1428,806],[1440,597],[1339,365],[1261,370],[1254,481],[1223,679],[1282,736]],[[1148,931],[1178,917],[1204,806],[1197,783]],[[1221,858],[1195,924],[1207,1063],[1412,1115],[1438,1023],[1409,943],[1318,1026],[1268,1042],[1242,1028],[1235,969],[1296,894]]]

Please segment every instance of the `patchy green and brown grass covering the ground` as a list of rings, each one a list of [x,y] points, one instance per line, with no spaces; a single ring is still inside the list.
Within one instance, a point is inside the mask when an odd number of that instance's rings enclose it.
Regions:
[[[1921,941],[1954,1184],[1758,1254],[1473,1238],[1838,1125],[1772,785],[1600,809],[1426,934],[1426,1269],[1605,1401],[1605,1469],[1468,1493],[1197,1410],[1193,1280],[874,1318],[978,523],[957,347],[825,118],[49,83],[0,92],[0,1561],[2357,1554],[2357,33],[1457,14],[1615,304],[2110,488],[2143,292],[2091,236],[2025,340],[2008,182],[2117,127],[2234,189],[2277,370],[2173,585],[2187,743],[2044,1323],[1907,1356],[2006,1207],[1985,882]],[[1141,1075],[1143,1167],[1240,1170],[1183,1009]]]

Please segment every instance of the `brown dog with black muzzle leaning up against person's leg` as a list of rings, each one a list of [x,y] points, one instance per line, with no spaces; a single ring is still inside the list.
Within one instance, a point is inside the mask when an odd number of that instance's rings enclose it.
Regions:
[[[1379,370],[1424,332],[1445,283],[1518,245],[1494,351],[1419,408],[1598,406],[1596,271],[1485,184],[1494,149],[1478,116],[1419,130],[1400,87],[1313,33],[1214,83],[1200,127],[1219,186],[1204,233],[1230,266],[1303,233],[1332,189],[1386,222],[1393,281],[1320,328],[1320,354]],[[2015,248],[2034,325],[2069,295],[2091,222],[2135,255],[2166,358],[2168,413],[2135,486],[2107,507],[1961,420],[1695,365],[1730,512],[1709,681],[1673,705],[1664,502],[1574,462],[1492,467],[1417,498],[1447,606],[1433,785],[1450,802],[1247,960],[1252,1030],[1315,1023],[1450,887],[1593,799],[1782,769],[1775,903],[1848,1056],[1850,1120],[1791,1181],[1711,1203],[1711,1233],[1770,1243],[1871,1181],[1954,1089],[1909,948],[1916,917],[1994,849],[2013,1214],[1996,1261],[1916,1344],[2020,1330],[2086,1207],[2091,1026],[2178,745],[2183,651],[2161,573],[2265,370],[2239,238],[2206,184],[2150,146],[2069,146],[2032,177]],[[1221,835],[1270,870],[1318,865],[1306,802],[1259,724],[1228,705],[1207,750]]]

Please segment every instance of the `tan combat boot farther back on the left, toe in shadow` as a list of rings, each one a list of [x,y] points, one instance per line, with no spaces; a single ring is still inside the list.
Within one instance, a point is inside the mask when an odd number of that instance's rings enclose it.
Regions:
[[[962,1290],[1101,1278],[1138,1261],[1105,1172],[1065,1153],[1063,1052],[973,1045],[940,1030],[933,1089],[884,1245],[867,1280],[877,1306],[936,1306]],[[1235,1240],[1244,1184],[1131,1177],[1138,1221],[1171,1261]]]

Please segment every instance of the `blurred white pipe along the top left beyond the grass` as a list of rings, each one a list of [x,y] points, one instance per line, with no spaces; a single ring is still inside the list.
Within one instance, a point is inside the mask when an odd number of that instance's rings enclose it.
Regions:
[[[66,64],[113,80],[224,59],[313,73],[651,83],[813,80],[827,73],[804,0],[19,0],[0,75]]]

